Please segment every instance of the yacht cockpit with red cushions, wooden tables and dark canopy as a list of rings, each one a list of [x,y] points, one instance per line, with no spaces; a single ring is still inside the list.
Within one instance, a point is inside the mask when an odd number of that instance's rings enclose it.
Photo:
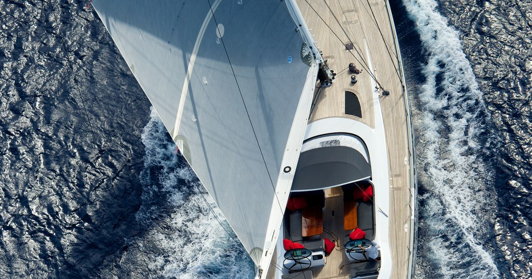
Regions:
[[[282,278],[336,276],[338,266],[351,278],[376,278],[374,187],[362,139],[335,134],[306,141],[284,216],[288,274]]]

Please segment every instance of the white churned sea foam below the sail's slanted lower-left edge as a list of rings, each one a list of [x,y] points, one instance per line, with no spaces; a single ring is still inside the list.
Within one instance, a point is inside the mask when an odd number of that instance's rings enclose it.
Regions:
[[[138,242],[150,255],[147,265],[155,273],[151,277],[253,277],[251,259],[192,169],[176,154],[153,109],[142,141],[144,193],[137,220],[150,231]]]

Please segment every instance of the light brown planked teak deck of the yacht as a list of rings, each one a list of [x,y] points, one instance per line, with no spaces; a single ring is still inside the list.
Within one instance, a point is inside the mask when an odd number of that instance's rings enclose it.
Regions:
[[[413,277],[414,237],[416,229],[415,169],[410,108],[404,84],[395,28],[386,0],[296,0],[314,40],[328,65],[336,73],[332,86],[322,89],[309,122],[329,117],[358,120],[375,128],[371,92],[371,71],[388,96],[380,94],[389,164],[389,246],[392,252],[391,278]],[[318,15],[319,14],[319,15]],[[347,48],[352,48],[347,51]],[[367,67],[370,56],[372,69]],[[351,84],[348,64],[361,73]],[[345,114],[345,91],[359,99],[362,117]],[[379,89],[379,92],[381,90]],[[322,237],[337,236],[336,249],[327,257],[325,267],[312,268],[314,278],[348,278],[348,261],[343,249],[344,218],[330,212],[344,212],[342,195],[327,191],[323,211]],[[341,191],[340,191],[341,192]],[[355,213],[356,216],[356,213]],[[355,220],[356,222],[356,220]],[[349,224],[346,224],[349,225]],[[352,224],[351,224],[352,225]],[[325,235],[327,234],[327,235]],[[274,268],[275,269],[275,268]],[[270,269],[271,271],[271,269]],[[271,274],[271,272],[269,273]]]

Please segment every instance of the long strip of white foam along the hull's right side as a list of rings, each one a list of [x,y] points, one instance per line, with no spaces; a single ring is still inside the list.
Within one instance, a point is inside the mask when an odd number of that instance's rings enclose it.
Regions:
[[[487,237],[491,217],[493,170],[484,162],[489,150],[487,110],[460,42],[458,31],[437,12],[434,0],[404,0],[416,24],[427,64],[425,84],[414,97],[418,115],[420,227],[418,278],[497,278]]]

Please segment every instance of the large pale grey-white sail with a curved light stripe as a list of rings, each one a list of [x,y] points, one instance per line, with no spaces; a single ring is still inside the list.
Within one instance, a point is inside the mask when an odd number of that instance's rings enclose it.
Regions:
[[[304,87],[318,68],[285,3],[92,3],[245,249],[260,255],[277,226],[270,215],[284,211],[287,192],[275,189],[292,183],[312,94]]]

